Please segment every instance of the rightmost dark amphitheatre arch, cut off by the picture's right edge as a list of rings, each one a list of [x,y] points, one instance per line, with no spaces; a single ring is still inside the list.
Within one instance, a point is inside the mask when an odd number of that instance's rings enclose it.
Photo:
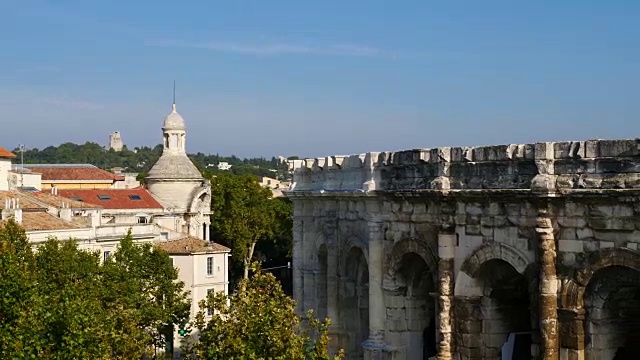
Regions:
[[[640,272],[622,266],[598,270],[584,293],[587,359],[638,359]]]

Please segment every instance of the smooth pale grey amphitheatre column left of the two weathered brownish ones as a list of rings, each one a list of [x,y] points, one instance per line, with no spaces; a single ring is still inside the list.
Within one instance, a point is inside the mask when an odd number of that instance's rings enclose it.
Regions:
[[[382,359],[386,310],[382,293],[384,234],[381,223],[369,223],[369,338],[362,343],[365,359]]]

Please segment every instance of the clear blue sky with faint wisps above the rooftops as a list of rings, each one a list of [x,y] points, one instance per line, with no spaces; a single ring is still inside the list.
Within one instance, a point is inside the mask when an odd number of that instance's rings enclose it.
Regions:
[[[640,135],[638,1],[0,0],[0,146],[323,156]]]

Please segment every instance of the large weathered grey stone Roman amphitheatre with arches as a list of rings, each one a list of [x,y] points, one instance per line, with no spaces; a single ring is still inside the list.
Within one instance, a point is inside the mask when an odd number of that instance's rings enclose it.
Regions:
[[[349,358],[640,358],[640,140],[290,165],[294,298]]]

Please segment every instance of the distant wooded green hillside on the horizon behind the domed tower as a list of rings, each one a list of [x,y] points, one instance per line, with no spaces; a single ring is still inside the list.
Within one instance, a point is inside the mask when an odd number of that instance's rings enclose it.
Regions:
[[[19,155],[18,149],[13,150]],[[82,145],[64,143],[60,146],[49,146],[42,150],[28,149],[24,152],[26,164],[93,164],[103,169],[114,167],[124,168],[125,172],[146,173],[155,164],[162,154],[162,145],[151,148],[148,146],[136,147],[129,150],[126,146],[122,151],[105,150],[100,144],[87,142]],[[196,166],[211,173],[218,173],[215,166],[219,162],[227,162],[231,165],[231,172],[236,175],[252,174],[256,176],[268,176],[283,178],[287,176],[287,166],[272,157],[240,159],[234,155],[229,157],[218,154],[208,155],[203,153],[189,154],[189,158]],[[18,157],[17,161],[20,161]]]

